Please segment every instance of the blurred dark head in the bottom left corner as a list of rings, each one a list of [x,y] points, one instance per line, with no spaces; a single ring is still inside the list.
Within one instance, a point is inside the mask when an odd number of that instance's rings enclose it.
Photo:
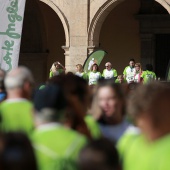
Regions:
[[[22,133],[7,133],[1,136],[3,149],[0,153],[0,169],[37,170],[31,142]]]

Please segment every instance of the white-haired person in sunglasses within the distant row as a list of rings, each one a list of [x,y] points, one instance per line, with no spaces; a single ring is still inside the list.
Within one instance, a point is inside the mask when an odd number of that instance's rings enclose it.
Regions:
[[[114,68],[112,68],[112,64],[110,62],[107,62],[105,66],[106,66],[106,69],[104,69],[102,73],[102,76],[104,77],[104,79],[111,79],[111,78],[116,79],[117,71]]]

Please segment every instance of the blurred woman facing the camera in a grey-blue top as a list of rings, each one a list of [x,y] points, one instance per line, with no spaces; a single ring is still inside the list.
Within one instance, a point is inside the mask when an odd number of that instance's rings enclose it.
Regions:
[[[125,116],[122,86],[113,80],[101,81],[92,107],[92,114],[98,120],[102,135],[117,142],[130,126]]]

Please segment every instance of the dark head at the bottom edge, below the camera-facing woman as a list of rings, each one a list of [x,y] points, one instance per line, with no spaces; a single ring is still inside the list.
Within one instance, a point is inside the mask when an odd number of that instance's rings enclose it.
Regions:
[[[114,144],[108,139],[90,141],[80,152],[80,170],[117,170],[119,156]]]

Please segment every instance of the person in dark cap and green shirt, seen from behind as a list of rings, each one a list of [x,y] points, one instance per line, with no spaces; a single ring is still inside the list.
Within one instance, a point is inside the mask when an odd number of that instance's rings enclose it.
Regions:
[[[75,161],[86,138],[62,125],[66,100],[61,88],[47,85],[34,99],[36,129],[32,134],[40,170],[59,169],[58,161]],[[57,164],[57,165],[56,165]]]

